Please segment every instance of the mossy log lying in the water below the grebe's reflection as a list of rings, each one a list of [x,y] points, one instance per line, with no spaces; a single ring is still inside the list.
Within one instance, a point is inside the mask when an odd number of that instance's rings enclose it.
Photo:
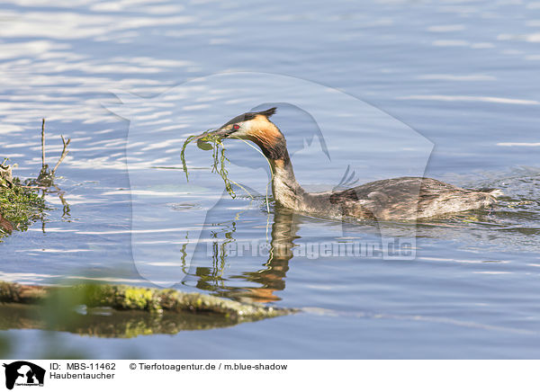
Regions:
[[[255,321],[297,312],[296,309],[240,303],[200,293],[108,284],[50,287],[0,281],[0,302],[49,304],[53,307],[85,305],[86,307],[111,307],[116,310],[189,312],[222,316],[236,321]]]

